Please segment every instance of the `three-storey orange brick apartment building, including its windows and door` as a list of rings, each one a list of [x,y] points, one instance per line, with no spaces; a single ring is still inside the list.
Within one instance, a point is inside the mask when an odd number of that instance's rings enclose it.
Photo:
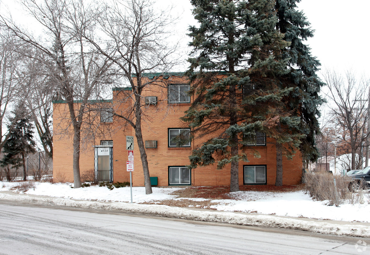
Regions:
[[[150,77],[149,77],[150,78]],[[192,149],[203,141],[193,139],[188,144],[176,147],[171,138],[180,132],[186,132],[179,118],[194,100],[186,94],[189,85],[181,76],[164,77],[163,82],[148,85],[142,96],[145,105],[145,118],[142,121],[142,135],[146,147],[152,184],[158,186],[194,185],[213,186],[230,185],[230,166],[218,170],[216,165],[188,169],[189,155]],[[111,101],[96,102],[103,110],[98,118],[87,113],[86,124],[81,135],[80,172],[95,173],[99,181],[129,181],[126,170],[128,150],[126,136],[134,136],[134,171],[133,186],[144,186],[144,174],[136,143],[134,130],[121,118],[112,116],[112,112],[124,115],[132,105],[128,96],[131,88],[114,88]],[[78,102],[76,102],[78,104]],[[91,111],[92,112],[92,111]],[[73,143],[68,135],[72,129],[68,126],[68,106],[63,101],[53,103],[54,180],[73,181]],[[90,127],[89,121],[95,126]],[[89,127],[88,127],[89,126]],[[87,132],[86,130],[90,130]],[[91,130],[100,130],[90,136]],[[71,132],[70,132],[71,133]],[[90,136],[90,139],[88,139]],[[93,139],[91,139],[93,137]],[[276,150],[275,141],[263,134],[257,137],[250,150],[259,151],[261,157],[248,157],[249,162],[239,162],[239,184],[275,184]],[[302,173],[302,159],[297,153],[292,160],[283,157],[283,184],[299,184]],[[157,177],[157,178],[155,178]]]

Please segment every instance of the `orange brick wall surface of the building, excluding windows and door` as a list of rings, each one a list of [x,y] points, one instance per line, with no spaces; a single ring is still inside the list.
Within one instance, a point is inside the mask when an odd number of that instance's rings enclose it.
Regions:
[[[170,78],[171,79],[171,78]],[[184,80],[185,81],[185,80]],[[169,81],[171,82],[171,81]],[[179,82],[179,78],[176,79]],[[180,81],[181,82],[181,81]],[[193,140],[191,147],[169,148],[168,147],[168,128],[185,127],[179,118],[184,115],[184,111],[189,108],[189,103],[169,104],[167,99],[167,89],[165,83],[159,83],[158,86],[148,86],[142,93],[143,100],[145,96],[157,96],[157,105],[144,105],[145,116],[142,121],[143,140],[157,140],[157,148],[146,149],[150,176],[158,177],[158,186],[168,186],[168,166],[185,166],[189,164],[189,155],[191,149],[201,140]],[[125,98],[125,94],[131,91],[113,91],[113,108],[120,114],[130,107],[131,102],[125,101],[119,103],[120,99]],[[191,99],[192,100],[192,99]],[[54,179],[58,181],[65,176],[65,180],[73,181],[73,147],[72,137],[63,135],[62,131],[66,129],[68,109],[65,103],[54,103],[53,128],[54,128]],[[126,160],[128,157],[126,146],[126,136],[134,136],[134,172],[132,172],[132,182],[134,186],[144,186],[144,174],[140,160],[140,153],[137,146],[137,140],[134,130],[130,125],[125,125],[121,119],[115,119],[114,124],[102,124],[110,127],[109,135],[97,135],[94,140],[84,142],[81,148],[80,171],[94,169],[94,145],[99,145],[100,140],[113,140],[113,172],[114,181],[129,181],[129,173],[126,171]],[[69,129],[70,133],[71,129]],[[145,145],[145,144],[144,144]],[[258,146],[261,157],[254,158],[247,153],[249,162],[239,162],[239,184],[243,184],[243,165],[261,164],[267,167],[267,184],[275,184],[276,179],[276,150],[273,139],[267,139],[266,146]],[[297,153],[293,160],[283,158],[283,184],[299,184],[302,170],[302,159]],[[210,185],[229,185],[230,184],[230,166],[222,170],[214,166],[198,167],[191,172],[192,185],[210,186]]]

